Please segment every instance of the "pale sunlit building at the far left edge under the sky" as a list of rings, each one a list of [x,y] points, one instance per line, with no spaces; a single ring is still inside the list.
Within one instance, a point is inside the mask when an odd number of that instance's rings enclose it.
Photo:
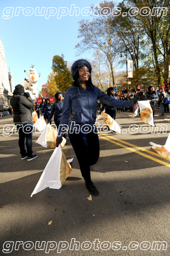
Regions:
[[[12,80],[12,72],[9,67],[7,70],[7,60],[5,59],[5,51],[2,41],[0,39],[0,107],[8,108],[9,99],[14,91],[14,84]]]

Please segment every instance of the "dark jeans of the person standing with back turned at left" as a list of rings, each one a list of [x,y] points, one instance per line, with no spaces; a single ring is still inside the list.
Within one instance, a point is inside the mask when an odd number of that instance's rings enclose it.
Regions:
[[[33,138],[33,121],[27,121],[24,124],[15,123],[19,133],[18,144],[20,147],[20,153],[22,156],[25,155],[25,138],[26,138],[26,147],[27,147],[27,155],[31,156],[32,151],[32,138]]]

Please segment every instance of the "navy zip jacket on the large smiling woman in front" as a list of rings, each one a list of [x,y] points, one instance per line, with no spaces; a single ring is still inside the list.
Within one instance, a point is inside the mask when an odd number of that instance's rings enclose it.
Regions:
[[[75,121],[75,124],[79,124],[81,131],[84,133],[87,133],[85,128],[89,129],[89,126],[92,127],[93,131],[96,120],[97,100],[118,108],[134,105],[133,100],[116,100],[115,98],[109,97],[94,85],[92,87],[91,85],[87,85],[86,89],[72,86],[65,93],[58,138],[61,137],[61,132],[65,132],[65,129],[62,127],[63,125],[68,124],[69,130],[73,130],[73,124],[71,126],[72,121]]]

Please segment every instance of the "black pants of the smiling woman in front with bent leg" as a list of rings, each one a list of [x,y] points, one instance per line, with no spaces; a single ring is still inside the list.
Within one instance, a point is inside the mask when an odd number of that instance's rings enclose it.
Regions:
[[[91,184],[90,166],[98,161],[100,154],[98,134],[70,132],[72,131],[69,131],[69,140],[78,158],[82,177],[86,184]]]

